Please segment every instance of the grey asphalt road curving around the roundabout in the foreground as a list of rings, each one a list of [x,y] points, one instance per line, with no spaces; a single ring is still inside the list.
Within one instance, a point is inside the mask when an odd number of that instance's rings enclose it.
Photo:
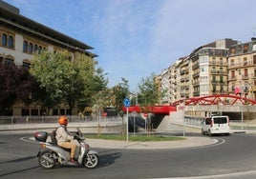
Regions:
[[[41,169],[36,158],[39,146],[21,141],[24,136],[30,135],[0,135],[1,179],[256,177],[255,134],[215,136],[220,145],[198,149],[96,149],[100,159],[96,169]]]

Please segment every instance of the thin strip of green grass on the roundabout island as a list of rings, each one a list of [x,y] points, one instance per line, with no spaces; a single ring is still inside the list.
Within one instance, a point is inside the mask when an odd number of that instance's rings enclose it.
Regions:
[[[126,135],[118,135],[118,134],[86,134],[86,138],[88,139],[104,139],[104,140],[118,140],[118,141],[126,141]],[[146,141],[179,141],[184,140],[183,137],[177,136],[163,136],[163,135],[129,135],[129,141],[133,142],[146,142]]]

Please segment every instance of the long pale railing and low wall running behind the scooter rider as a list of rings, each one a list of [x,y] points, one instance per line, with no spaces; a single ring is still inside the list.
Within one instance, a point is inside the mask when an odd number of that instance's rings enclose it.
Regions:
[[[68,116],[69,129],[80,128],[85,132],[119,132],[124,127],[121,117],[81,118]],[[52,131],[58,126],[57,116],[8,116],[0,117],[0,131],[34,131],[44,129]]]

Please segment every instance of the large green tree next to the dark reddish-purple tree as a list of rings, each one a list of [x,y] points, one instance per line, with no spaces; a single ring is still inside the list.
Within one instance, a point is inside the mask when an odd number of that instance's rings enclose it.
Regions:
[[[37,101],[42,105],[42,108],[46,108],[47,113],[49,109],[53,109],[61,102],[60,87],[63,83],[62,76],[67,59],[60,61],[60,58],[62,59],[59,53],[42,51],[40,54],[35,54],[32,59],[30,71],[37,80],[40,87],[39,91],[41,91],[41,95],[37,96]]]

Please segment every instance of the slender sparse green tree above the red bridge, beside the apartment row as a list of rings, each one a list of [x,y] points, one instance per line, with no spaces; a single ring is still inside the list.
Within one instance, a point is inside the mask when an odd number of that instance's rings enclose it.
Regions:
[[[155,82],[155,74],[142,78],[139,83],[139,99],[141,106],[152,106],[159,102],[160,91]]]

